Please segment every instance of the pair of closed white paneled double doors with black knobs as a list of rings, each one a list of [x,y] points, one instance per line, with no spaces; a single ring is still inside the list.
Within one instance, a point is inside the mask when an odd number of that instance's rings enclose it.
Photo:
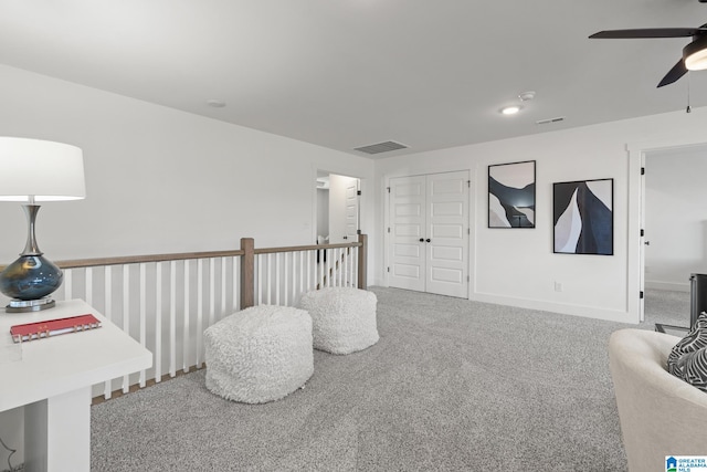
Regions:
[[[390,286],[468,296],[468,171],[390,179]]]

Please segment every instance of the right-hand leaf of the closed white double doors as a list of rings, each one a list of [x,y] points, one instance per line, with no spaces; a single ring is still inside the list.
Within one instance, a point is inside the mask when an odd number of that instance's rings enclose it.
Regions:
[[[426,292],[468,296],[468,172],[426,181]]]

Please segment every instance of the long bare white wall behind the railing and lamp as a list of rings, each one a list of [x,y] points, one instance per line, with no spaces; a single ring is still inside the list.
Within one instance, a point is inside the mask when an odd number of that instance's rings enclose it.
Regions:
[[[50,260],[235,249],[243,237],[261,248],[310,244],[316,169],[373,175],[368,158],[18,69],[0,65],[0,84],[1,135],[84,151],[87,198],[44,203],[38,218]],[[7,263],[24,247],[24,216],[3,203],[0,220]]]

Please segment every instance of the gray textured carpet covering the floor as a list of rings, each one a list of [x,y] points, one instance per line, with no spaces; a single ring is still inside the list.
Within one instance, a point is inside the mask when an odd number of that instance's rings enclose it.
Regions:
[[[281,401],[223,400],[200,370],[93,407],[92,470],[626,470],[606,357],[626,325],[372,291],[380,342],[315,352]],[[648,293],[640,327],[685,324],[674,298]]]

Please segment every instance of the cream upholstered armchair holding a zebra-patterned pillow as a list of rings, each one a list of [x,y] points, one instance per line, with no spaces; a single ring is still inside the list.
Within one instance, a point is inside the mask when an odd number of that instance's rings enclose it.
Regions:
[[[666,455],[707,455],[707,394],[666,370],[678,340],[643,329],[621,329],[609,340],[631,472],[665,472]]]

